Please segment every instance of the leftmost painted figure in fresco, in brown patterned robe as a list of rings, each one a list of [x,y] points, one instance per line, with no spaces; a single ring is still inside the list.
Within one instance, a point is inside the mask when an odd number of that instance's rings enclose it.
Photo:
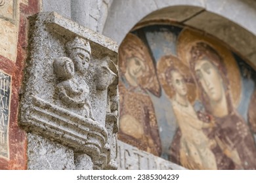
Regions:
[[[146,46],[138,37],[128,35],[126,40],[119,48],[121,95],[118,138],[140,150],[160,156],[158,124],[153,103],[147,93],[160,92],[160,88],[153,87],[156,83],[153,63]]]

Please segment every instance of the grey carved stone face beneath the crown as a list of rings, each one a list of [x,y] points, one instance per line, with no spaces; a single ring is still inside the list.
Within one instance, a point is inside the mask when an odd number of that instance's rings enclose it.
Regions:
[[[70,54],[70,58],[74,61],[75,70],[79,73],[85,73],[89,67],[91,56],[88,52],[81,48],[75,48]]]

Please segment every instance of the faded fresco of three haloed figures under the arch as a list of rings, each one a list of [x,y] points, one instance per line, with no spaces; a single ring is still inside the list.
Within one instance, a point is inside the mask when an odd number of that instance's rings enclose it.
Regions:
[[[256,169],[256,73],[196,31],[150,25],[119,48],[119,140],[188,169]]]

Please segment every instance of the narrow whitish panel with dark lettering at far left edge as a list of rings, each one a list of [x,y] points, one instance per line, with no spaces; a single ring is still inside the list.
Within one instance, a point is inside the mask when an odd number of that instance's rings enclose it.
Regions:
[[[0,157],[9,158],[11,76],[0,72]]]

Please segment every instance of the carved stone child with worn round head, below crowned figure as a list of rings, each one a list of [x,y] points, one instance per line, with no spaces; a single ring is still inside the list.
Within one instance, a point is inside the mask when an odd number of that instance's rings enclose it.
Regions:
[[[54,73],[61,80],[57,85],[58,97],[68,107],[85,107],[87,117],[93,118],[91,104],[87,100],[89,86],[79,83],[74,77],[75,69],[72,59],[60,57],[54,59]]]

